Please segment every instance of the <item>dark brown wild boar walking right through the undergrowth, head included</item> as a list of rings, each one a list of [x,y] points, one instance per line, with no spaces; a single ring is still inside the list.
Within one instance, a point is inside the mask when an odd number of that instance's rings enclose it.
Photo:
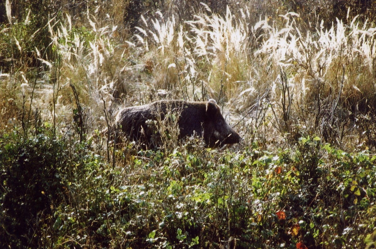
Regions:
[[[121,109],[115,122],[131,140],[150,146],[155,128],[148,124],[148,120],[164,120],[168,112],[177,117],[179,138],[196,133],[203,136],[205,143],[211,148],[239,143],[242,140],[226,123],[215,100],[208,102],[161,100],[147,105],[131,106]]]

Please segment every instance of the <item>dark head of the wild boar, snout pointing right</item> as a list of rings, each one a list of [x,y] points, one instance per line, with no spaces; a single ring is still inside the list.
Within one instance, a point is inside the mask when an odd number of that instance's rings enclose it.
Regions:
[[[243,138],[224,120],[221,110],[214,99],[206,103],[206,117],[203,123],[203,137],[211,148],[222,147],[224,144],[240,143]]]

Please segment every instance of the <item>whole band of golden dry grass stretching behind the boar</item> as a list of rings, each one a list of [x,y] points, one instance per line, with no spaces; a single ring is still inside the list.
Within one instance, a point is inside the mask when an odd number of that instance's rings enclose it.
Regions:
[[[280,127],[285,96],[291,98],[289,131],[319,135],[328,120],[338,120],[337,106],[353,118],[358,112],[374,110],[376,29],[372,23],[349,15],[346,24],[337,19],[329,29],[324,21],[307,27],[295,12],[275,19],[260,16],[251,23],[254,17],[246,5],[227,6],[223,15],[201,6],[192,20],[178,21],[159,11],[153,17],[141,16],[141,25],[129,33],[119,21],[122,12],[113,7],[109,10],[114,16],[99,21],[105,5],[87,9],[77,23],[69,14],[61,20],[51,18],[46,28],[56,56],[49,59],[40,54],[42,48],[33,48],[35,59],[44,66],[33,93],[33,108],[44,110],[44,119],[49,120],[55,105],[58,124],[71,122],[74,107],[69,85],[73,83],[92,113],[93,128],[104,126],[104,103],[116,112],[122,103],[212,97],[223,106],[224,115],[231,114],[227,117],[242,120],[243,125],[252,123],[255,110],[249,110],[256,104],[267,114],[263,129],[269,131]],[[18,52],[24,51],[24,43],[16,37],[13,42]],[[287,75],[288,93],[282,89],[281,70]],[[23,71],[2,77],[5,91],[11,91],[6,85],[15,84],[16,109],[23,109],[21,88],[28,88],[25,105],[30,104],[34,78]],[[11,108],[6,104],[8,95],[2,95],[4,110]],[[16,113],[19,118],[20,111]],[[2,126],[11,118],[6,116]],[[315,125],[308,126],[312,122]],[[241,128],[244,133],[247,127]]]

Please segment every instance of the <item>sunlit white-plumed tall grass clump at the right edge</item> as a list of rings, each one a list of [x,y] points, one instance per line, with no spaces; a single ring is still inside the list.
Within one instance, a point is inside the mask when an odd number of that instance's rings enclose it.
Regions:
[[[347,26],[337,19],[337,24],[329,30],[324,29],[321,22],[319,27],[302,32],[295,23],[296,15],[289,13],[285,16],[284,29],[267,25],[268,39],[255,54],[268,56],[274,68],[291,71],[297,77],[294,82],[299,86],[297,91],[304,94],[314,91],[314,85],[303,85],[303,80],[321,80],[326,83],[326,96],[330,91],[338,94],[341,74],[344,73],[345,100],[356,91],[363,93],[365,99],[373,99],[375,29],[368,27],[367,23],[360,26],[358,17],[355,17]],[[358,79],[353,75],[358,75]],[[361,98],[353,103],[359,100]]]

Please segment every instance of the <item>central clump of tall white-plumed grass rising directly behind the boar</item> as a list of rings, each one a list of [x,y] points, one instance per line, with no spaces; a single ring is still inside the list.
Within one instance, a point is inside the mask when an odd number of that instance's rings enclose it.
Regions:
[[[151,19],[150,24],[142,18],[144,27],[136,27],[139,34],[135,36],[146,58],[157,52],[153,70],[158,70],[156,75],[162,74],[156,79],[157,87],[180,86],[188,99],[203,99],[204,88],[216,99],[232,97],[239,82],[248,76],[247,53],[242,53],[247,51],[248,27],[246,22],[235,19],[229,8],[222,18],[202,5],[207,13],[199,12],[193,16],[196,20],[180,26],[174,16],[164,21],[161,13],[161,21]]]

